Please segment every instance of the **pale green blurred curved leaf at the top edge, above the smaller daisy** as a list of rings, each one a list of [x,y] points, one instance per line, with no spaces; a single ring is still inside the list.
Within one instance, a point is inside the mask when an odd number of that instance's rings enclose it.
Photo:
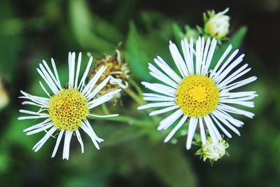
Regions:
[[[71,29],[80,46],[111,53],[122,38],[116,28],[90,13],[84,0],[71,0],[69,13]]]

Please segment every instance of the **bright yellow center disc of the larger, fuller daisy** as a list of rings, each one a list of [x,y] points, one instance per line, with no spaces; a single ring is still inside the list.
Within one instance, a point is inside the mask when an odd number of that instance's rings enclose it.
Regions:
[[[216,109],[219,90],[212,78],[193,75],[183,79],[176,93],[176,102],[183,113],[203,117]]]

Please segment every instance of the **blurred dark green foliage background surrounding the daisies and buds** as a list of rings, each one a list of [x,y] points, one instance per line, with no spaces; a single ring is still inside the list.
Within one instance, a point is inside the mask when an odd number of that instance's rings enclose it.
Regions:
[[[138,66],[146,66],[156,55],[170,58],[168,43],[176,40],[175,23],[182,29],[203,26],[203,12],[226,7],[230,34],[242,28],[244,61],[258,76],[246,89],[259,95],[255,118],[241,118],[246,124],[241,137],[229,141],[229,157],[211,167],[194,155],[195,147],[186,151],[186,137],[177,144],[163,144],[166,133],[155,127],[106,120],[91,120],[105,139],[99,151],[87,136],[83,155],[73,138],[69,161],[62,160],[61,148],[56,158],[50,158],[55,139],[38,153],[31,150],[43,132],[32,136],[22,132],[34,122],[17,120],[22,108],[18,96],[20,90],[43,95],[36,73],[41,60],[50,62],[54,57],[66,80],[69,51],[83,52],[85,64],[87,52],[99,58],[122,42],[132,78],[139,81]],[[279,19],[277,0],[1,0],[0,74],[10,102],[0,111],[0,186],[280,186]],[[112,104],[110,109],[143,118],[130,97],[123,95],[122,101],[123,106]],[[134,110],[125,110],[129,107]]]

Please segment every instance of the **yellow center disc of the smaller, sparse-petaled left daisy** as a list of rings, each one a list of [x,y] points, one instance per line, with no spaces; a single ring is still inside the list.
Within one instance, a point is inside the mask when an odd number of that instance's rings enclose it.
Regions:
[[[59,130],[76,130],[90,114],[87,99],[78,90],[60,90],[50,98],[49,118]]]

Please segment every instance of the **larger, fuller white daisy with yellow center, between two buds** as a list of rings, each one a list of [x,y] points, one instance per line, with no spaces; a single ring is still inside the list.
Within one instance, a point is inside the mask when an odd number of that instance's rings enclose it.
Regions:
[[[165,138],[165,142],[169,141],[175,132],[189,120],[187,149],[191,147],[197,127],[200,128],[202,144],[206,144],[206,130],[214,144],[218,144],[218,141],[222,139],[218,128],[230,138],[232,135],[227,128],[240,135],[237,127],[241,127],[244,123],[234,118],[231,113],[253,118],[253,113],[238,109],[237,105],[254,107],[254,103],[250,100],[257,96],[256,92],[232,92],[232,90],[255,81],[257,77],[252,76],[236,81],[251,68],[247,68],[248,64],[244,64],[237,69],[244,57],[244,55],[236,57],[239,50],[235,50],[225,60],[232,50],[231,45],[225,50],[214,69],[210,70],[216,43],[216,39],[211,42],[208,39],[204,43],[204,38],[199,38],[194,49],[193,39],[190,39],[190,43],[187,39],[183,39],[181,41],[182,57],[176,45],[170,41],[169,49],[180,74],[176,74],[159,56],[155,58],[155,64],[158,67],[148,64],[151,76],[162,83],[142,82],[146,88],[158,93],[144,93],[144,100],[153,103],[139,106],[138,109],[162,108],[152,111],[150,116],[175,110],[170,116],[160,121],[158,130],[166,130],[180,119]],[[231,104],[235,106],[230,106]]]

